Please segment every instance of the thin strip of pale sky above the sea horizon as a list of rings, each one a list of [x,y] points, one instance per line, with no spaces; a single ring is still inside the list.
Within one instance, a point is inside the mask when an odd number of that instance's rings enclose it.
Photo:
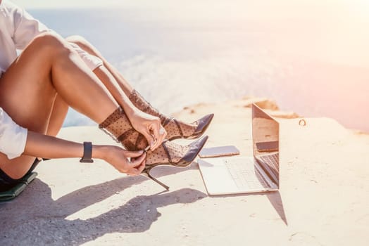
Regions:
[[[358,12],[358,15],[368,15],[369,1],[368,0],[187,0],[187,1],[173,1],[173,0],[63,0],[63,1],[49,1],[49,0],[13,0],[16,4],[24,8],[87,8],[87,7],[168,7],[180,6],[186,8],[188,6],[227,6],[233,5],[237,8],[239,6],[249,6],[255,10],[263,11],[265,13],[278,15],[282,13],[285,15],[300,15],[301,13],[308,13],[309,8],[312,7],[328,7],[334,11],[337,6],[352,8]],[[307,8],[307,9],[306,9]]]

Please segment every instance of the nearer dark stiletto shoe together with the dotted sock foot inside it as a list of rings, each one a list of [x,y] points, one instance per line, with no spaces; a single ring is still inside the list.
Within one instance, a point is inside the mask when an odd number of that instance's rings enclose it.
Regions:
[[[165,155],[168,162],[160,162],[160,156],[155,157],[154,155],[162,155],[161,153],[149,152],[146,154],[146,167],[142,171],[144,176],[149,177],[159,185],[163,186],[166,190],[169,190],[169,186],[166,186],[158,179],[155,179],[154,176],[151,176],[150,171],[154,167],[158,167],[161,165],[169,165],[172,167],[187,167],[191,164],[196,156],[199,154],[200,150],[204,147],[206,141],[208,140],[208,136],[203,136],[198,140],[190,143],[189,145],[177,145],[175,143],[171,143],[170,141],[164,141],[161,145],[163,146],[163,150],[165,150]],[[179,150],[179,148],[181,148]],[[178,157],[175,155],[182,155],[182,157]],[[165,157],[164,157],[165,158]]]

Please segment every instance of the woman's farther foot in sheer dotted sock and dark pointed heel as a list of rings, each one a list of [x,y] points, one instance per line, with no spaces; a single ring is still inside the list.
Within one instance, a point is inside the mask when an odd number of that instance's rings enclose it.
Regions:
[[[151,104],[148,103],[136,90],[132,91],[129,98],[133,105],[135,105],[139,110],[161,119],[161,124],[167,131],[167,138],[169,140],[173,140],[175,138],[199,138],[199,136],[204,134],[214,116],[213,114],[210,114],[196,120],[195,122],[185,123],[172,117],[166,117],[158,112],[158,110],[151,106]]]

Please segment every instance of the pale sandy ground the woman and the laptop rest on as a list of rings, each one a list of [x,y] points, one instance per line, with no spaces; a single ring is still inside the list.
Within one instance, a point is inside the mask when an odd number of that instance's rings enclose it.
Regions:
[[[0,245],[368,245],[368,134],[329,118],[301,127],[293,112],[256,98],[174,115],[214,112],[206,145],[236,145],[251,155],[252,101],[282,117],[279,191],[208,196],[196,162],[154,169],[170,186],[163,192],[100,160],[49,160],[17,199],[0,204]],[[96,127],[65,128],[60,136],[112,143]]]

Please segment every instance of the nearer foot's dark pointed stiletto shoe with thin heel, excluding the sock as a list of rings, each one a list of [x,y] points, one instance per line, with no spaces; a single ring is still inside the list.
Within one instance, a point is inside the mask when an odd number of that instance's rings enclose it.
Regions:
[[[151,164],[147,164],[148,162],[146,162],[146,167],[142,171],[142,174],[144,176],[149,177],[150,179],[152,179],[156,183],[160,184],[166,190],[169,190],[169,186],[166,186],[164,183],[162,183],[161,181],[158,181],[156,178],[151,176],[151,174],[150,174],[151,169],[153,169],[154,167],[163,166],[163,165],[169,165],[169,166],[172,166],[172,167],[188,167],[189,164],[191,164],[194,161],[196,156],[199,154],[201,149],[204,147],[207,140],[208,140],[208,136],[203,136],[202,138],[199,138],[198,140],[196,140],[196,141],[190,143],[189,145],[185,146],[187,148],[187,151],[186,151],[186,153],[184,153],[182,158],[180,158],[180,160],[177,160],[177,162],[173,162],[173,159],[175,159],[175,157],[170,156],[170,151],[175,150],[175,149],[173,149],[173,146],[168,146],[167,145],[167,143],[170,143],[170,142],[165,141],[165,142],[161,143],[161,145],[163,146],[163,149],[165,150],[166,155],[168,155],[168,162],[165,162],[165,163],[160,163],[159,162],[159,163],[151,163]],[[169,148],[169,147],[172,147],[172,148]],[[175,148],[178,148],[177,145],[175,145]],[[146,158],[149,158],[151,160],[156,160],[156,157],[154,157],[152,155],[156,155],[156,153],[152,153],[152,152],[147,153]]]

